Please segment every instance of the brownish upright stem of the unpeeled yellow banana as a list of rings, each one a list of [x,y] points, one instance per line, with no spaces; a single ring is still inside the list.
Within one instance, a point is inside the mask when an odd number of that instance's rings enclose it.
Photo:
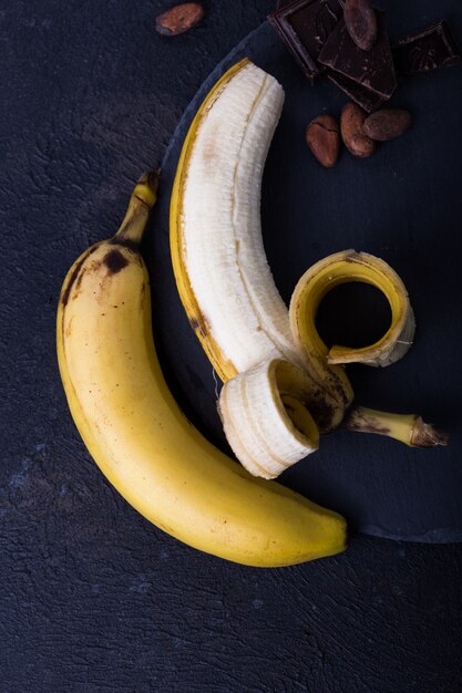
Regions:
[[[124,220],[113,240],[137,249],[143,238],[150,210],[157,199],[158,170],[144,173],[136,183]]]

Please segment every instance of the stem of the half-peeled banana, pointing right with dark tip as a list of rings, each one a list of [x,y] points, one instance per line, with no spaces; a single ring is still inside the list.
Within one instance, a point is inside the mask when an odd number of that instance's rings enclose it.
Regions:
[[[356,406],[343,421],[343,427],[356,433],[386,435],[411,447],[448,445],[446,434],[425,424],[418,414],[394,414]]]

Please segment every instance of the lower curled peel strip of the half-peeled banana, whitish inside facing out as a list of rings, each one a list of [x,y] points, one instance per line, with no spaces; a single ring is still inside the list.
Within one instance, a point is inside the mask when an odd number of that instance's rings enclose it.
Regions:
[[[228,380],[218,401],[226,438],[254,476],[276,478],[318,449],[318,428],[302,403],[310,381],[286,361],[263,363]]]

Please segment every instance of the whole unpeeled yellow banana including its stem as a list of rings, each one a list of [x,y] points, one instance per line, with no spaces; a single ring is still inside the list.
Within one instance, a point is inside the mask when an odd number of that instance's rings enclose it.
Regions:
[[[203,551],[271,567],[343,550],[339,515],[251,477],[194,428],[168,391],[140,254],[154,201],[155,178],[145,177],[119,232],[85,250],[61,290],[60,373],[90,454],[142,515]]]

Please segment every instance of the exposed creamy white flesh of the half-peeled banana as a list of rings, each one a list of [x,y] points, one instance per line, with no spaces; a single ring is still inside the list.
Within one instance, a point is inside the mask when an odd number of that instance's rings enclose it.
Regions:
[[[263,169],[283,103],[278,82],[247,61],[199,120],[183,179],[184,265],[203,321],[236,372],[274,358],[301,365],[260,226]]]

